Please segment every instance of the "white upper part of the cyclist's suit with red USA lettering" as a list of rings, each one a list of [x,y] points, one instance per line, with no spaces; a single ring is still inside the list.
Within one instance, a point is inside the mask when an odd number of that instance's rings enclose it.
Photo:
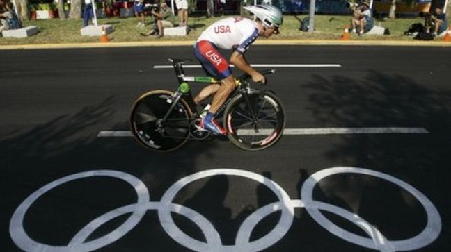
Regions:
[[[243,17],[228,17],[209,26],[197,42],[207,40],[221,49],[235,49],[239,53],[245,53],[257,37],[256,22]]]

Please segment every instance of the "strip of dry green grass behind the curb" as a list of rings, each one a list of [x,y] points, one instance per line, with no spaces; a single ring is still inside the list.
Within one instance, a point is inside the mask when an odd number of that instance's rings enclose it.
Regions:
[[[300,20],[307,15],[287,15],[284,24],[280,28],[279,35],[273,35],[271,40],[289,39],[289,40],[338,40],[342,35],[345,24],[349,24],[350,16],[346,15],[316,15],[315,32],[306,33],[299,31]],[[145,28],[136,28],[136,19],[134,17],[119,18],[111,17],[98,19],[99,24],[112,24],[115,31],[109,34],[111,42],[143,42],[152,40],[196,40],[200,33],[209,24],[212,24],[223,17],[190,17],[189,26],[191,31],[189,35],[178,37],[163,37],[157,39],[156,36],[142,37],[140,32],[149,31],[151,19],[146,19]],[[390,35],[364,35],[358,36],[352,34],[352,40],[413,40],[412,37],[405,36],[404,31],[416,22],[423,22],[423,19],[416,18],[397,18],[375,20],[375,24],[380,24],[390,29]],[[40,33],[27,38],[8,38],[0,37],[0,44],[61,44],[61,43],[86,43],[99,42],[99,37],[88,37],[80,35],[82,26],[81,19],[43,19],[29,20],[24,22],[24,26],[38,26]]]

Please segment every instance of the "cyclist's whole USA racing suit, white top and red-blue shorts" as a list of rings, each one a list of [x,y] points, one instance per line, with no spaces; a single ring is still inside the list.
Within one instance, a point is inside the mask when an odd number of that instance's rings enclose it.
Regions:
[[[218,48],[245,53],[257,37],[257,23],[251,19],[243,17],[221,19],[200,35],[194,46],[194,54],[207,74],[222,80],[230,76],[232,71]]]

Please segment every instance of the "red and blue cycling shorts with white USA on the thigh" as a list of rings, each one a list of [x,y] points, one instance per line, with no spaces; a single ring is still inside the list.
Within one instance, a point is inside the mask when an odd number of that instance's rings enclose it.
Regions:
[[[209,76],[221,81],[232,75],[229,63],[212,42],[207,40],[197,42],[194,47],[194,55]]]

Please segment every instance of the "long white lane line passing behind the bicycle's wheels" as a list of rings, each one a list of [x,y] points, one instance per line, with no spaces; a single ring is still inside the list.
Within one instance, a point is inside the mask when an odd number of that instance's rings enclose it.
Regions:
[[[240,130],[241,135],[268,135],[267,130],[255,133],[253,130]],[[283,135],[344,135],[344,134],[427,134],[425,128],[285,128]],[[130,131],[100,131],[97,137],[132,137]]]

